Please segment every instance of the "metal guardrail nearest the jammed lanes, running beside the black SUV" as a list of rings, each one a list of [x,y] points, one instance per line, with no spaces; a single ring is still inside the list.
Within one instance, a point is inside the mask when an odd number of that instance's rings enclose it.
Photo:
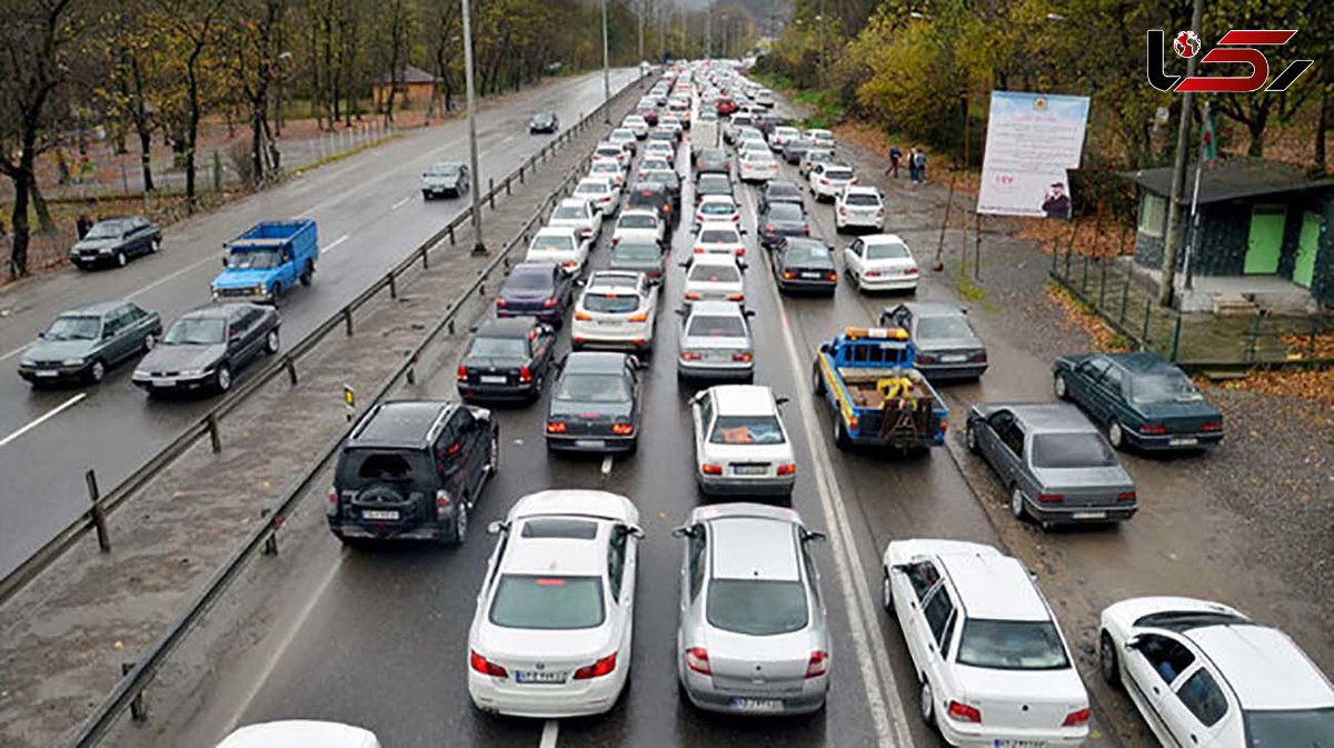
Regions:
[[[616,96],[612,97],[612,101],[619,100],[627,91],[631,89],[632,85],[622,89],[622,92],[619,92]],[[584,117],[579,123],[579,125],[576,125],[576,129],[583,131],[587,127],[587,124],[591,124],[591,117],[600,115],[602,115],[602,107],[599,107],[598,109],[591,112],[587,117]],[[566,137],[566,140],[568,140],[568,137]],[[580,167],[586,167],[590,163],[590,160],[591,156],[584,156],[579,161]],[[532,216],[530,216],[528,220],[524,221],[523,228],[519,229],[518,235],[511,237],[510,241],[506,243],[504,248],[496,255],[496,257],[491,260],[491,263],[488,263],[487,267],[482,269],[482,272],[479,272],[478,279],[474,280],[472,284],[468,285],[468,288],[464,289],[464,292],[459,295],[450,304],[450,307],[446,309],[444,315],[436,321],[436,324],[430,331],[427,331],[427,333],[412,348],[412,351],[410,351],[404,356],[403,361],[398,365],[398,368],[390,376],[387,376],[384,381],[376,388],[375,395],[370,400],[367,408],[374,407],[375,404],[383,401],[390,395],[390,392],[392,392],[394,388],[398,387],[404,380],[408,381],[414,380],[415,369],[422,353],[431,344],[435,343],[442,331],[450,329],[451,333],[454,332],[455,317],[463,308],[464,303],[468,301],[474,295],[484,296],[486,284],[488,279],[498,269],[508,271],[510,253],[516,247],[527,245],[532,229],[536,225],[546,221],[548,212],[559,203],[562,197],[570,193],[571,185],[582,177],[582,173],[583,168],[576,167],[575,169],[571,169],[571,172],[566,176],[566,179],[562,180],[560,185],[556,187],[556,189],[552,191],[550,195],[547,195],[546,199],[543,199],[542,204],[538,207],[536,211],[534,211]],[[454,224],[454,221],[451,221],[451,224]],[[411,267],[418,260],[419,255],[420,257],[426,257],[426,253],[430,251],[426,247],[427,245],[423,245],[423,248],[416,249],[407,260],[404,260],[403,264],[399,265],[399,268],[395,268],[395,271]],[[392,275],[394,271],[391,271],[391,276]],[[383,288],[382,284],[387,283],[388,280],[382,280],[376,285]],[[358,299],[362,300],[362,303],[364,303],[362,297],[370,299],[371,296],[374,295],[370,293],[368,289],[368,292],[363,292],[363,295],[359,296]],[[354,301],[354,304],[355,303],[356,301]],[[320,333],[321,336],[328,335],[328,329],[325,328],[332,329],[334,327],[338,327],[338,321],[340,319],[342,319],[342,312],[339,315],[335,315],[325,324],[320,325],[320,328],[316,328],[316,331],[313,331],[312,335],[308,335],[307,339],[303,340],[301,344],[299,344],[299,347],[307,345],[308,340],[311,340],[315,333]],[[313,347],[313,343],[309,343],[308,347]],[[269,367],[272,372],[283,371],[284,368],[287,367],[281,361]],[[276,373],[268,373],[268,379],[272,379],[272,376],[276,376]],[[215,411],[221,409],[224,404],[227,403],[219,404],[219,408],[215,408]],[[235,407],[235,404],[231,404],[231,407]],[[133,665],[133,668],[131,668],[120,679],[120,681],[116,684],[116,688],[103,700],[101,704],[99,704],[97,709],[87,720],[84,720],[84,723],[77,728],[77,732],[75,732],[75,735],[69,737],[69,740],[67,741],[68,745],[76,748],[91,748],[93,745],[100,744],[101,739],[107,736],[108,731],[111,731],[116,720],[120,719],[127,709],[131,711],[136,719],[147,719],[147,712],[143,707],[143,692],[149,685],[149,683],[152,683],[153,676],[163,667],[163,663],[189,635],[191,629],[200,621],[200,619],[204,617],[204,615],[219,600],[219,597],[221,597],[223,592],[225,592],[225,589],[241,572],[245,564],[255,557],[257,551],[267,549],[269,552],[276,552],[275,533],[280,527],[283,527],[284,519],[292,512],[292,509],[295,509],[300,499],[309,492],[309,488],[311,485],[313,485],[316,477],[327,467],[328,461],[338,453],[339,445],[343,443],[344,439],[347,439],[347,436],[351,433],[355,425],[356,425],[355,420],[350,421],[348,425],[340,431],[336,439],[329,440],[329,443],[320,449],[319,460],[315,461],[301,475],[301,477],[296,480],[291,485],[291,488],[288,488],[283,493],[283,497],[276,503],[276,505],[264,515],[264,520],[260,521],[253,531],[251,531],[249,536],[236,548],[236,551],[231,553],[231,556],[223,564],[223,567],[220,567],[216,572],[213,572],[213,575],[208,580],[208,584],[193,597],[187,611],[176,620],[176,623],[167,631],[167,633],[164,633],[153,644],[153,647],[149,648],[143,655],[143,657]],[[195,427],[192,427],[192,429],[187,431],[187,435],[192,433],[193,440],[197,440],[199,437],[203,436],[203,433],[199,432],[199,429],[200,425],[196,424]],[[183,435],[183,437],[185,435]],[[193,443],[193,440],[191,443]],[[188,445],[185,448],[188,448]],[[117,491],[119,488],[120,487],[117,487]]]

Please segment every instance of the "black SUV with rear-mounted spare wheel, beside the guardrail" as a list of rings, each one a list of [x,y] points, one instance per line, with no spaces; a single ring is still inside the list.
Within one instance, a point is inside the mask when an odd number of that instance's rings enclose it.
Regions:
[[[343,444],[329,529],[344,543],[460,544],[468,513],[499,465],[500,429],[491,411],[431,400],[376,405]]]

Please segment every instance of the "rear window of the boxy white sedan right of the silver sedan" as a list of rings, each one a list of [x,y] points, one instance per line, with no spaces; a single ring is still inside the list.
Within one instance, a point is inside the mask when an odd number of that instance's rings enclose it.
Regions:
[[[998,671],[1061,671],[1070,667],[1051,621],[967,619],[959,637],[960,665]]]

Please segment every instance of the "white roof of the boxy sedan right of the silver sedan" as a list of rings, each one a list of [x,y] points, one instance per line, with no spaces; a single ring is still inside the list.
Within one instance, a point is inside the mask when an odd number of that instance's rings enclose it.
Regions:
[[[956,603],[963,605],[970,619],[1051,620],[1038,585],[1018,559],[990,553],[944,553],[936,560],[959,595]]]

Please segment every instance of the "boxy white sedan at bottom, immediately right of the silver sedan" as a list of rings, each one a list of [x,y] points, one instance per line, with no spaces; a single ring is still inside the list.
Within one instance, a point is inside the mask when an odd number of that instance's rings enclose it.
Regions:
[[[1055,616],[1017,559],[959,540],[895,540],[882,601],[950,745],[1082,745],[1089,693]]]

